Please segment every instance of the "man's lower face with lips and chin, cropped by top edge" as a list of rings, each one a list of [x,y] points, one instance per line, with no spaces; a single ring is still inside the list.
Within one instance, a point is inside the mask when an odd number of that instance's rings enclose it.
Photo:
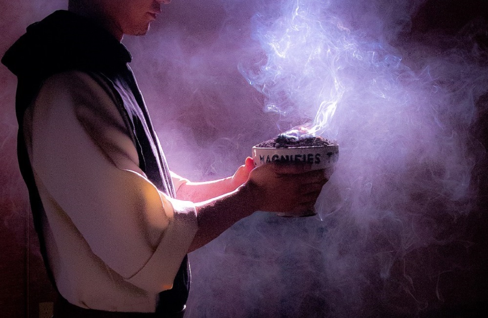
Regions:
[[[149,23],[161,13],[161,3],[170,0],[106,0],[106,9],[116,26],[127,35],[144,35]]]

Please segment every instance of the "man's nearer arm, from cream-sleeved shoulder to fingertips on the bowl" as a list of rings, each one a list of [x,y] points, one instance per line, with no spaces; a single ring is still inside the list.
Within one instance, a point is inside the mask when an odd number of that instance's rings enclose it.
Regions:
[[[326,181],[323,171],[269,164],[210,200],[172,199],[139,169],[124,125],[105,118],[116,114],[86,74],[48,81],[34,107],[31,161],[43,202],[65,214],[107,266],[148,291],[169,288],[188,251],[243,217],[310,210]]]

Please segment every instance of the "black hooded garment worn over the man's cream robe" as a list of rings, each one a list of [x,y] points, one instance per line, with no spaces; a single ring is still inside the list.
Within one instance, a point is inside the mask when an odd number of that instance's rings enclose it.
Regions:
[[[126,47],[105,29],[68,11],[56,11],[34,23],[2,59],[18,77],[16,114],[19,122],[18,159],[29,191],[34,225],[51,282],[56,283],[47,257],[42,227],[44,208],[36,186],[23,135],[24,114],[46,79],[69,71],[81,71],[113,97],[139,157],[139,167],[159,191],[175,197],[166,159],[152,127],[146,105],[127,63]],[[190,288],[190,268],[185,255],[173,288],[159,294],[156,312],[184,308]]]

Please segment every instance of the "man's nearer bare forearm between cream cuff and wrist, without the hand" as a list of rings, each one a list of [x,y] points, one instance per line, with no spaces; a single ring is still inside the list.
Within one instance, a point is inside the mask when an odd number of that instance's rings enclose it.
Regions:
[[[251,188],[251,185],[243,185],[230,193],[197,203],[198,231],[189,252],[209,243],[235,222],[257,210],[255,191]]]

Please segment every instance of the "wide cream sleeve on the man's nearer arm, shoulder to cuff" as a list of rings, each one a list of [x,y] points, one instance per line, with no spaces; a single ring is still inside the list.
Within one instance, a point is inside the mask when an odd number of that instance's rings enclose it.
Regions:
[[[44,83],[30,112],[29,156],[42,200],[128,282],[171,288],[197,231],[195,207],[158,191],[139,169],[110,96],[89,75],[68,72]]]

